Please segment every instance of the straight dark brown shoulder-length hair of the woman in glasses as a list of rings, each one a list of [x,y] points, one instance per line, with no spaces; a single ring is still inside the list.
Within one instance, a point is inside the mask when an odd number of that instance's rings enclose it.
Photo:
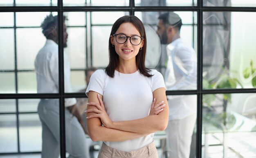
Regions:
[[[132,23],[144,39],[144,46],[142,47],[141,50],[139,50],[139,53],[136,55],[136,66],[142,75],[151,77],[152,75],[148,73],[150,70],[145,67],[147,38],[146,38],[146,31],[141,20],[139,20],[139,18],[137,18],[134,15],[130,15],[130,16],[126,15],[117,19],[117,21],[112,26],[110,36],[115,34],[119,26],[125,22]],[[115,47],[113,47],[111,44],[110,37],[108,41],[108,50],[109,50],[109,64],[106,67],[106,73],[108,76],[114,77],[115,69],[117,68],[117,66],[119,66],[119,56],[115,51]]]

